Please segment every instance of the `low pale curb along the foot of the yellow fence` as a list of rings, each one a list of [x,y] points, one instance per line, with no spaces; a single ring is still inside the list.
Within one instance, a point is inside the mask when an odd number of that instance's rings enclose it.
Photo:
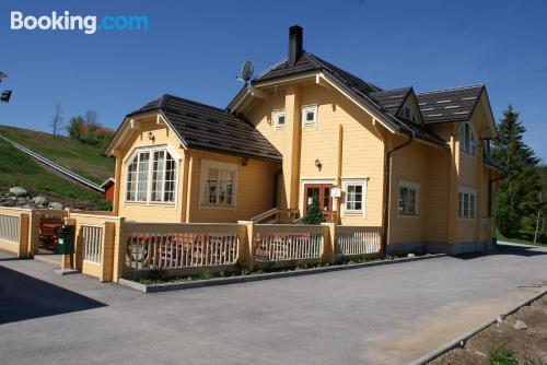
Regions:
[[[362,262],[362,263],[354,263],[354,264],[338,264],[338,266],[331,266],[331,267],[325,267],[325,268],[282,271],[282,272],[269,272],[269,273],[245,275],[245,276],[242,275],[242,276],[232,276],[232,278],[216,278],[216,279],[210,279],[210,280],[199,280],[199,281],[190,281],[190,282],[173,282],[173,283],[161,283],[161,284],[140,284],[140,283],[133,282],[131,280],[119,279],[118,284],[130,287],[132,290],[142,292],[142,293],[158,293],[158,292],[182,291],[182,290],[187,290],[187,289],[206,287],[206,286],[214,286],[214,285],[247,283],[247,282],[261,281],[261,280],[313,275],[313,274],[333,272],[333,271],[353,270],[353,269],[379,267],[379,266],[384,266],[384,264],[421,261],[421,260],[434,259],[434,258],[445,257],[445,256],[446,256],[445,254],[433,254],[433,255],[417,256],[417,257],[405,257],[405,258],[393,259],[393,260],[380,260],[380,261],[372,261],[372,262]]]

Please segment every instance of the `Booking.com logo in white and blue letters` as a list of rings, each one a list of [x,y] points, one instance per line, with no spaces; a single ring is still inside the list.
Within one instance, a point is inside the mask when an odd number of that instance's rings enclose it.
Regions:
[[[95,34],[97,31],[141,31],[148,30],[148,16],[143,15],[105,15],[97,21],[95,15],[71,15],[68,10],[51,15],[26,15],[21,11],[11,12],[11,30],[42,31],[83,31]]]

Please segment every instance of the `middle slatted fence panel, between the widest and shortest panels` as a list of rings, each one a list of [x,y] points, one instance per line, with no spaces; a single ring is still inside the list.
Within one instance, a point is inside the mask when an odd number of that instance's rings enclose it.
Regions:
[[[255,261],[319,259],[325,229],[312,225],[258,224],[253,238]]]

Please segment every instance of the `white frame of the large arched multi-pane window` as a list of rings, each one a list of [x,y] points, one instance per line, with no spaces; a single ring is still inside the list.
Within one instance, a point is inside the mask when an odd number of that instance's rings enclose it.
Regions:
[[[154,152],[158,151],[166,151],[173,160],[175,161],[175,186],[173,191],[173,201],[154,201],[152,200],[152,178],[153,178],[153,155]],[[129,186],[129,165],[132,160],[137,156],[137,154],[141,152],[147,152],[150,154],[149,165],[148,165],[148,179],[147,179],[147,200],[128,200],[127,199],[127,189]],[[136,204],[136,205],[176,205],[177,197],[178,197],[178,168],[181,164],[181,156],[178,153],[170,144],[161,144],[154,146],[142,146],[136,148],[129,157],[124,161],[125,168],[125,184],[124,184],[124,204]]]

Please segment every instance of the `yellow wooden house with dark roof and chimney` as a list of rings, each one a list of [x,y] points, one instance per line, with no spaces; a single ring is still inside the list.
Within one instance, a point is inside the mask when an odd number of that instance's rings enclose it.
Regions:
[[[485,248],[502,172],[485,86],[382,90],[304,51],[302,35],[291,27],[287,59],[225,109],[163,95],[129,114],[106,150],[115,213],[298,219],[317,199],[327,221],[381,226],[392,251]]]

